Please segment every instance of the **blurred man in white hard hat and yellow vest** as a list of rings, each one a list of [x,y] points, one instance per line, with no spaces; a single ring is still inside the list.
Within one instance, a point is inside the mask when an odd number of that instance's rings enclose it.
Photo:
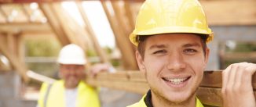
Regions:
[[[82,48],[74,44],[64,46],[57,62],[62,80],[42,84],[38,107],[100,107],[95,88],[82,81],[86,64]]]

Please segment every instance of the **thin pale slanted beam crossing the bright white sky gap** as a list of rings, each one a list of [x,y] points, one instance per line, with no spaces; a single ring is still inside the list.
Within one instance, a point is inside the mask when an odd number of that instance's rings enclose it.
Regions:
[[[82,8],[82,2],[76,2],[76,5],[77,5],[79,12],[82,16],[82,20],[86,23],[86,31],[89,33],[88,36],[90,37],[90,40],[93,41],[93,47],[96,49],[97,54],[100,56],[101,62],[109,62],[107,53],[104,52],[104,50],[101,48],[101,45],[97,41],[96,35],[94,34],[93,29],[90,25],[90,21],[88,20],[88,18],[86,16],[86,12]]]

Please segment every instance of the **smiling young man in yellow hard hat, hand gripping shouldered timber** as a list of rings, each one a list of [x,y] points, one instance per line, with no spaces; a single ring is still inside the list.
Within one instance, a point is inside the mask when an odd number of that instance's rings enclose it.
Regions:
[[[203,107],[196,90],[207,66],[213,32],[197,0],[148,0],[130,41],[150,90],[129,107]],[[222,73],[223,106],[255,107],[251,77],[256,65],[232,64]]]

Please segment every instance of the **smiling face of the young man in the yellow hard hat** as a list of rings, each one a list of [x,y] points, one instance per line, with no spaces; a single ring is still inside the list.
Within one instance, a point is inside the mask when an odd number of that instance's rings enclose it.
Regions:
[[[144,59],[139,52],[136,54],[152,98],[177,104],[195,97],[209,54],[207,49],[204,55],[202,47],[200,37],[195,34],[159,34],[147,38]]]

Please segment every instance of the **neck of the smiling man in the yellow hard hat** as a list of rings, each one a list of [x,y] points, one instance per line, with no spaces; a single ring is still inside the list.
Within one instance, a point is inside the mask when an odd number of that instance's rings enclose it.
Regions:
[[[196,95],[192,95],[183,102],[173,102],[152,92],[152,105],[154,107],[196,107]]]

